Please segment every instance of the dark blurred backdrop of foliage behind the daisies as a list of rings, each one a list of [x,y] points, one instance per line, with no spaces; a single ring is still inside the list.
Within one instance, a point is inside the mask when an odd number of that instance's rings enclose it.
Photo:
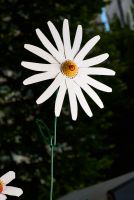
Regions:
[[[73,122],[66,97],[57,127],[54,199],[134,170],[134,1],[0,0],[0,175],[16,171],[13,184],[23,188],[24,200],[49,199],[50,148],[36,120],[53,130],[55,102],[55,95],[43,105],[35,102],[51,81],[23,86],[33,72],[21,61],[39,61],[24,44],[43,48],[35,29],[52,41],[47,21],[61,33],[64,18],[72,39],[78,24],[83,26],[83,44],[101,36],[88,57],[108,52],[110,58],[99,66],[115,70],[116,77],[97,77],[113,93],[97,91],[103,110],[87,97],[93,118],[79,107]]]

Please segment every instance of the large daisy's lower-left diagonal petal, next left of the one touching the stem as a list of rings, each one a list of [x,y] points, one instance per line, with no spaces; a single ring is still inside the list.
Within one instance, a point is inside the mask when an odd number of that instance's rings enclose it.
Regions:
[[[47,99],[49,99],[53,93],[58,89],[62,81],[64,80],[64,76],[59,73],[52,84],[45,90],[45,92],[37,99],[36,103],[41,104]]]

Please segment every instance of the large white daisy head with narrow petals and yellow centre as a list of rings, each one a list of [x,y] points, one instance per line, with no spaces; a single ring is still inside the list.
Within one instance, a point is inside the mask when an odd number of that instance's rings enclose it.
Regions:
[[[68,91],[69,95],[72,119],[77,119],[77,100],[86,114],[91,117],[92,111],[84,97],[83,91],[85,91],[100,108],[103,108],[103,102],[92,87],[104,92],[112,92],[112,89],[91,78],[90,75],[115,75],[115,72],[111,69],[91,67],[105,61],[109,57],[107,53],[84,60],[88,52],[100,40],[100,36],[97,35],[90,39],[80,50],[82,41],[81,25],[78,25],[77,27],[72,46],[70,41],[69,23],[67,19],[63,22],[63,41],[52,22],[48,22],[48,27],[57,48],[51,44],[40,29],[36,29],[37,36],[49,53],[30,44],[25,44],[24,48],[43,58],[49,64],[23,61],[21,63],[23,67],[41,72],[25,79],[23,84],[29,85],[48,79],[54,79],[52,84],[37,99],[37,104],[45,102],[59,88],[55,101],[55,115],[57,117],[60,116],[66,91]]]

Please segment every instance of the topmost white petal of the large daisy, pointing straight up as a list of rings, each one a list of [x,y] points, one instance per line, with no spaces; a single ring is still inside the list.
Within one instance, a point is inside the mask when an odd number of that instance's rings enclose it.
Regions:
[[[65,57],[66,59],[70,59],[71,58],[71,41],[70,41],[69,24],[68,24],[67,19],[65,19],[63,22],[63,42],[64,42],[64,49],[65,49]]]

